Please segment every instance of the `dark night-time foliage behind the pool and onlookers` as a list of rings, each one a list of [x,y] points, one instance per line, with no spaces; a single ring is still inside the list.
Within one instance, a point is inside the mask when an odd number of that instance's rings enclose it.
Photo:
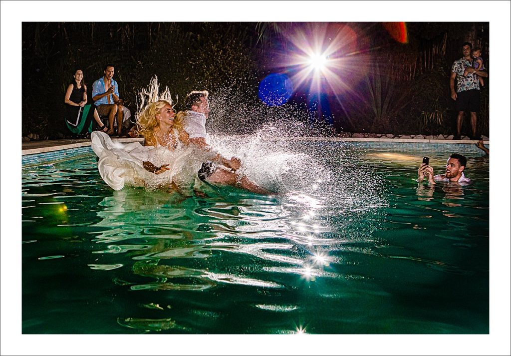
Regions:
[[[276,53],[293,49],[289,35],[306,25],[24,23],[22,135],[37,133],[51,139],[66,133],[63,102],[72,74],[77,68],[84,71],[92,102],[92,82],[103,76],[106,63],[115,65],[114,79],[133,113],[137,92],[157,75],[160,84],[179,97],[176,109],[191,90],[210,91],[214,118],[210,125],[215,130],[248,133],[276,122],[290,127],[297,127],[293,120],[307,124],[304,93],[296,93],[281,108],[266,107],[257,97],[259,81],[277,70]],[[489,24],[408,23],[406,44],[394,41],[379,23],[352,25],[368,59],[364,76],[350,83],[349,95],[329,95],[335,128],[452,133],[451,64],[461,57],[461,43],[469,40],[482,49],[489,68]],[[342,29],[342,24],[338,27]],[[489,79],[485,82],[478,126],[488,135]]]

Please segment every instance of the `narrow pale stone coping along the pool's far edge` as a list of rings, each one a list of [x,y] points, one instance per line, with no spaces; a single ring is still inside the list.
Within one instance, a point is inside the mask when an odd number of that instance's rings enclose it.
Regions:
[[[339,141],[339,142],[395,142],[395,143],[435,143],[435,144],[476,144],[477,140],[432,140],[432,139],[392,139],[392,138],[352,138],[352,137],[285,137],[285,140],[295,141]],[[78,140],[77,140],[78,141]],[[144,142],[143,138],[119,138],[112,139],[114,142],[130,143]],[[47,141],[48,142],[48,141]],[[490,140],[483,141],[484,144],[490,144]],[[36,154],[60,151],[69,148],[87,147],[91,145],[90,140],[83,140],[75,143],[55,143],[46,147],[27,148],[21,150],[21,155]]]

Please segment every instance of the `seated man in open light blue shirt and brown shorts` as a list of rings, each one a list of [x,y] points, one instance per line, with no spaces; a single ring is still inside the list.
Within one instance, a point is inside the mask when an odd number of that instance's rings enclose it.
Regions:
[[[92,84],[92,100],[94,100],[99,115],[108,115],[109,128],[106,133],[108,135],[114,133],[113,121],[117,117],[117,135],[120,135],[123,124],[123,100],[119,98],[117,82],[112,79],[113,64],[107,64],[103,73],[104,77]]]

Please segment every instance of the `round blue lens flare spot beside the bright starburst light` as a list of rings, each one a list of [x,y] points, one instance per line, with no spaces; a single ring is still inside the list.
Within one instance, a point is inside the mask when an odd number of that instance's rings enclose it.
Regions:
[[[259,99],[268,106],[285,104],[293,94],[293,84],[285,74],[272,73],[259,83]]]

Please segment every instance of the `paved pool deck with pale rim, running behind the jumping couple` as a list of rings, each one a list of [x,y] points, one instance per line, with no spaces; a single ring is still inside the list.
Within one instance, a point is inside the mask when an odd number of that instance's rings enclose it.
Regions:
[[[428,140],[428,139],[390,139],[390,138],[349,138],[349,137],[286,137],[283,140],[300,140],[300,141],[344,141],[344,142],[403,142],[403,143],[458,143],[458,144],[475,144],[476,140]],[[144,142],[143,138],[118,138],[112,139],[122,143],[130,142]],[[483,141],[484,144],[490,144],[490,140]],[[90,139],[76,139],[76,140],[41,140],[41,141],[26,141],[21,143],[21,155],[35,154],[59,151],[69,148],[86,147],[90,146]]]

